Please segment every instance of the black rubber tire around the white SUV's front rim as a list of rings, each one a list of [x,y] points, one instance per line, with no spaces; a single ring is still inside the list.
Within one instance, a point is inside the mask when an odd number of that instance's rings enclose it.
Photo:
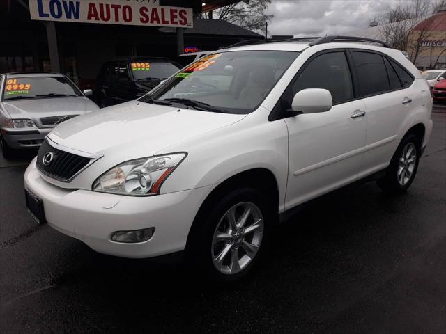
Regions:
[[[217,264],[214,264],[214,233],[216,232],[217,226],[220,226],[219,224],[222,221],[222,217],[224,217],[229,209],[236,207],[237,205],[245,205],[244,203],[254,204],[254,206],[261,212],[261,216],[263,217],[261,242],[257,253],[253,256],[252,260],[249,260],[245,267],[240,266],[243,267],[243,269],[240,269],[240,271],[237,273],[223,273],[217,269]],[[210,278],[217,283],[234,283],[246,278],[249,273],[251,273],[253,269],[257,267],[263,257],[263,253],[265,253],[265,250],[268,247],[272,225],[275,220],[274,207],[271,204],[272,203],[270,201],[268,202],[268,198],[266,198],[261,191],[250,187],[229,191],[218,200],[207,203],[206,208],[201,210],[201,212],[199,212],[197,215],[197,218],[192,225],[190,236],[187,239],[187,247],[185,251],[186,262],[190,264],[191,268],[194,270],[199,269],[198,272],[200,274],[204,273],[206,278]],[[243,210],[243,207],[241,208]],[[247,224],[247,226],[249,225],[250,224]],[[224,243],[222,247],[227,247],[226,243],[234,241],[220,242]],[[250,242],[253,241],[251,240]],[[238,254],[241,254],[242,257],[245,253],[244,247],[241,244],[240,250],[238,250],[237,246],[237,250],[231,249],[231,252],[232,251],[238,252]],[[220,250],[218,250],[217,253],[218,252],[220,252]],[[229,259],[226,260],[232,260],[232,253],[228,254],[230,254]],[[247,253],[245,253],[245,255],[247,255]],[[247,260],[246,257],[245,260]],[[228,267],[231,267],[231,264],[229,264]]]

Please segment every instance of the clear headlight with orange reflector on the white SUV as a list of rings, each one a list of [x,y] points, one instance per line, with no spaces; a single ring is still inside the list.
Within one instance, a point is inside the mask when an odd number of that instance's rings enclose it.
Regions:
[[[125,161],[98,177],[93,183],[93,191],[130,196],[157,195],[162,182],[186,156],[186,152],[180,152]]]

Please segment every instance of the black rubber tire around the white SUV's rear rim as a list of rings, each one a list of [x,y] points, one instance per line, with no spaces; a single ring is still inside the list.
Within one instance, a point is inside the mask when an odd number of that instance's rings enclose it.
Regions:
[[[413,145],[413,146],[412,146]],[[401,182],[399,180],[399,170],[401,168],[406,168],[408,170],[408,164],[403,162],[400,163],[400,159],[403,155],[403,150],[405,148],[415,148],[415,165],[413,166],[413,170],[410,173],[410,177],[403,177],[405,182]],[[415,136],[415,134],[407,134],[404,136],[401,143],[399,143],[397,150],[395,151],[392,160],[390,161],[390,165],[387,167],[385,172],[385,177],[378,180],[376,183],[378,186],[383,189],[383,191],[387,193],[403,193],[409,189],[410,184],[412,184],[415,179],[415,175],[417,174],[418,164],[420,162],[421,157],[421,142],[420,138]]]

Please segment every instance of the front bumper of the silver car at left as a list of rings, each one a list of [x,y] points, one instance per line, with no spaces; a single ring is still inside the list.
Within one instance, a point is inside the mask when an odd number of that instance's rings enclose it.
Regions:
[[[38,148],[54,127],[45,129],[1,129],[1,136],[10,148]]]

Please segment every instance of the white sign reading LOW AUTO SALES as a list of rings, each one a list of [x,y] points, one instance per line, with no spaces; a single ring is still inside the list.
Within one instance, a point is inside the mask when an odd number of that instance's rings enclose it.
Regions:
[[[43,21],[192,28],[192,8],[160,6],[158,0],[29,0],[31,19]]]

